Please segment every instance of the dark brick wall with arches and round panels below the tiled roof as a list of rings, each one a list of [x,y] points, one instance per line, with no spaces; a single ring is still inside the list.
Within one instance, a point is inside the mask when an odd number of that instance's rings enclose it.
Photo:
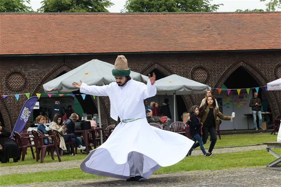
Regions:
[[[221,52],[221,53],[169,53],[169,54],[124,54],[133,71],[147,75],[157,69],[163,75],[178,74],[189,79],[198,79],[211,87],[219,88],[238,67],[243,67],[260,86],[281,77],[281,55],[278,52]],[[43,84],[63,71],[92,59],[114,63],[116,55],[87,56],[37,56],[0,58],[0,94],[41,93]],[[109,72],[111,73],[111,72]],[[214,92],[214,95],[217,93]],[[274,116],[281,113],[281,92],[266,92]],[[182,96],[187,109],[200,104],[204,95]],[[8,96],[0,99],[0,112],[7,129],[12,128],[19,111],[26,101]],[[110,118],[110,103],[101,97],[103,124],[116,124]],[[94,100],[96,104],[96,100]]]

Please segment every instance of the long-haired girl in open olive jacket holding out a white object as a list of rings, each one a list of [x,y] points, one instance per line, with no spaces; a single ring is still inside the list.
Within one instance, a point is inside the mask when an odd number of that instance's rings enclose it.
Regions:
[[[216,142],[216,128],[219,126],[215,124],[215,119],[218,117],[221,120],[231,120],[234,117],[231,116],[223,116],[221,112],[219,112],[218,107],[216,107],[214,98],[212,96],[207,97],[207,102],[200,107],[199,109],[199,116],[201,117],[201,122],[203,123],[203,128],[202,128],[202,139],[203,139],[203,144],[207,142],[208,139],[208,132],[210,132],[211,135],[211,145],[209,147],[208,153],[210,154],[209,156],[212,155],[212,149],[215,145]],[[208,154],[207,153],[207,154]]]

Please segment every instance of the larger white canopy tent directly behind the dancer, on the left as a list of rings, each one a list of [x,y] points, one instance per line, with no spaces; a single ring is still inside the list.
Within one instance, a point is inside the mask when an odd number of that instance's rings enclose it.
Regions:
[[[43,88],[46,93],[58,93],[59,91],[72,92],[78,90],[77,88],[72,86],[72,82],[79,82],[80,80],[82,80],[87,85],[107,85],[115,81],[115,78],[111,73],[111,70],[113,68],[114,65],[111,63],[93,59],[45,83],[43,85]],[[145,84],[148,80],[147,76],[144,76],[141,73],[137,73],[135,71],[131,71],[130,76],[132,77],[132,79],[143,82]],[[97,97],[97,105],[98,118],[99,122],[101,122],[99,97]],[[99,127],[101,127],[101,123],[99,123]]]

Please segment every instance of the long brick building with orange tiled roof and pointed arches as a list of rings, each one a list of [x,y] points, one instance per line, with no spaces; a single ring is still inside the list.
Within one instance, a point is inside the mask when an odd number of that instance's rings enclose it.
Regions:
[[[281,12],[1,13],[0,94],[11,96],[0,99],[0,121],[12,129],[26,100],[12,95],[35,96],[44,83],[84,62],[114,63],[119,54],[142,74],[175,73],[212,88],[261,87],[277,116],[281,93],[262,86],[281,77],[280,33]],[[216,89],[213,94],[218,96]],[[177,96],[178,111],[203,97]],[[103,124],[113,123],[109,107],[102,97]]]

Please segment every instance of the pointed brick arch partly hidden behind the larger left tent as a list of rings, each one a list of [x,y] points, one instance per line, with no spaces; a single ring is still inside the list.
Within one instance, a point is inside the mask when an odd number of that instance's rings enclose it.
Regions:
[[[56,78],[56,76],[58,76],[60,73],[66,71],[70,71],[72,69],[74,69],[75,67],[69,63],[63,62],[60,63],[59,65],[57,65],[55,68],[53,68],[51,71],[49,71],[41,80],[40,82],[37,84],[37,86],[34,88],[33,92],[32,92],[32,96],[36,96],[36,93],[41,93],[43,91],[43,84],[45,84],[48,81],[53,80],[54,78]],[[101,113],[106,115],[106,119],[108,119],[108,112],[107,112],[107,108],[105,107],[104,101],[105,98],[100,97],[100,109],[101,109]],[[93,98],[92,98],[93,100]],[[95,107],[97,108],[97,101],[93,100],[93,103],[95,104]],[[102,115],[103,116],[103,115]],[[103,119],[102,119],[103,120]]]

